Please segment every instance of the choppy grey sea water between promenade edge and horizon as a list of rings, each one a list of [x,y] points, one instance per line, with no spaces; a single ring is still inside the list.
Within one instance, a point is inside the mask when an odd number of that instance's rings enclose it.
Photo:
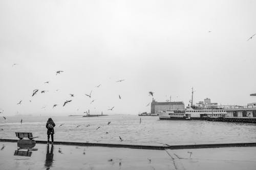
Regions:
[[[20,119],[23,118],[23,124]],[[47,140],[48,117],[8,117],[0,121],[0,138],[17,139],[15,132],[32,132],[37,140]],[[124,144],[199,144],[256,142],[256,125],[204,120],[159,120],[158,116],[111,115],[102,117],[52,117],[55,141]],[[107,125],[111,121],[110,125]],[[65,124],[59,127],[60,124]],[[81,125],[80,127],[76,127]],[[90,125],[89,127],[86,127]],[[100,127],[98,130],[96,128]],[[106,134],[106,132],[109,132]],[[123,141],[119,140],[119,136]]]

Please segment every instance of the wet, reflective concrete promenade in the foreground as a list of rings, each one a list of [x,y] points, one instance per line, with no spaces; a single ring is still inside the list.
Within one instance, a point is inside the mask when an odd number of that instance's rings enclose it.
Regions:
[[[131,149],[36,143],[37,151],[0,142],[1,169],[255,169],[256,147]],[[16,155],[15,155],[16,154]],[[24,155],[24,156],[17,156]]]

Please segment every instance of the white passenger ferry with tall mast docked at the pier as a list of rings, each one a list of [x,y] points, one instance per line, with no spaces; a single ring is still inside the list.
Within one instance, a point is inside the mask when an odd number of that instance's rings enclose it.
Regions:
[[[184,119],[196,120],[207,119],[208,117],[225,117],[227,112],[223,108],[216,107],[197,107],[193,105],[193,88],[191,97],[191,106],[185,109],[166,109],[157,112],[160,119]]]

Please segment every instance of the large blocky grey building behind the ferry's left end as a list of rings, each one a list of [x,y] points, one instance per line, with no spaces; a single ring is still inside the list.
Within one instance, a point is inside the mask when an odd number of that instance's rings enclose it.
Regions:
[[[151,102],[151,113],[165,111],[166,109],[185,109],[185,105],[183,102],[156,102],[153,98]]]

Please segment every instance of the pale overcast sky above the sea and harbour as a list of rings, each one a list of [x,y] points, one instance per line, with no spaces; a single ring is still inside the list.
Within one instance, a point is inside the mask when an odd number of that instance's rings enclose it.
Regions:
[[[196,102],[255,102],[256,36],[247,41],[256,33],[255,7],[244,0],[0,1],[0,108],[4,115],[137,114],[150,111],[148,91],[187,105],[191,87]],[[34,89],[49,92],[31,97]],[[91,90],[92,104],[84,95]],[[69,93],[75,97],[62,107]]]

